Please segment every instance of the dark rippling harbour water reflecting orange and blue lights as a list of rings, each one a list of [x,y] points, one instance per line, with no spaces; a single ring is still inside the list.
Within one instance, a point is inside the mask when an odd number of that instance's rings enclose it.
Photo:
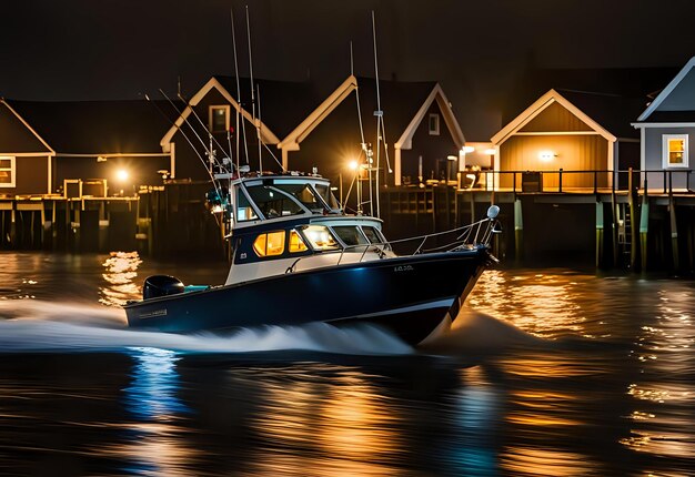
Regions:
[[[127,329],[142,278],[0,254],[0,474],[692,475],[695,285],[491,271],[439,341]]]

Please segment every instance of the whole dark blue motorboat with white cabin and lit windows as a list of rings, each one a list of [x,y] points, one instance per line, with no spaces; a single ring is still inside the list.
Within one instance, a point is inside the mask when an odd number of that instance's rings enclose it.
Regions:
[[[143,298],[124,305],[130,327],[197,333],[369,323],[417,345],[451,325],[496,262],[496,205],[447,233],[387,241],[381,219],[345,213],[316,173],[225,179],[226,186],[208,196],[226,227],[225,282],[187,286],[173,276],[150,276]]]

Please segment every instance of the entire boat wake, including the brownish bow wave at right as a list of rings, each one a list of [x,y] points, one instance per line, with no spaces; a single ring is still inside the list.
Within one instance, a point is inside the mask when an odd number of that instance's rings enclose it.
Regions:
[[[439,356],[497,354],[544,339],[492,316],[463,308],[449,332],[417,353]],[[261,326],[236,333],[173,334],[130,329],[122,309],[37,300],[0,301],[0,353],[120,352],[157,347],[181,353],[311,351],[351,355],[404,355],[415,351],[390,332],[369,324],[335,327]]]

